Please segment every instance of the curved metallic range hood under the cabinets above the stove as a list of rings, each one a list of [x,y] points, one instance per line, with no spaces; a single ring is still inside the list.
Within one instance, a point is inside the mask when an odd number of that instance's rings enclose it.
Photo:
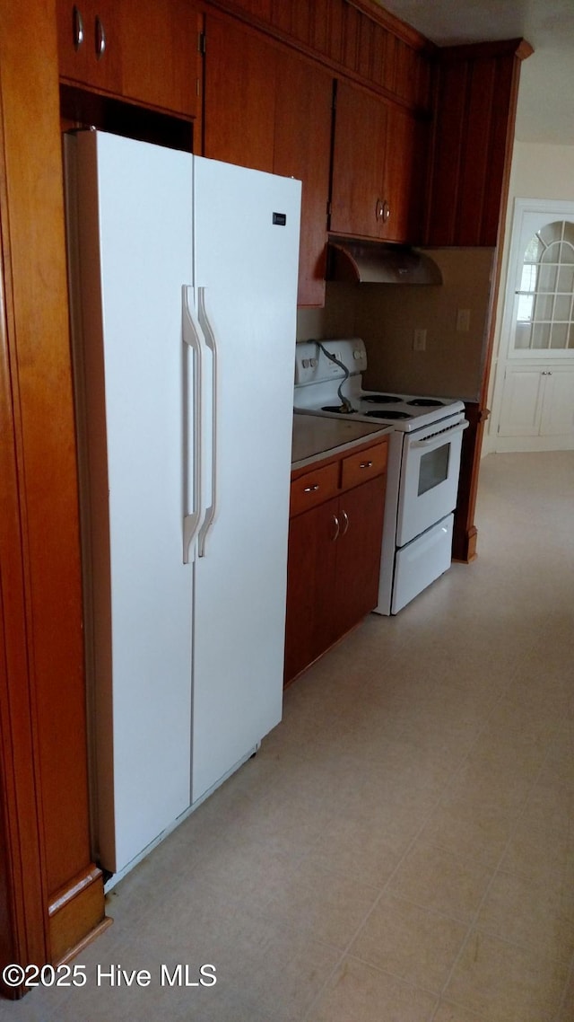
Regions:
[[[331,236],[327,279],[357,284],[442,284],[439,267],[417,248]]]

